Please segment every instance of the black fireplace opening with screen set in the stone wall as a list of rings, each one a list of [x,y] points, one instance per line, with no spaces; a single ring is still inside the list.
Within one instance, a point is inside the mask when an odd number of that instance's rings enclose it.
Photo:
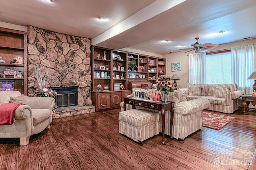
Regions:
[[[78,100],[77,87],[58,87],[52,88],[52,90],[56,90],[57,96],[55,98],[55,102],[57,107],[64,106],[76,106]]]

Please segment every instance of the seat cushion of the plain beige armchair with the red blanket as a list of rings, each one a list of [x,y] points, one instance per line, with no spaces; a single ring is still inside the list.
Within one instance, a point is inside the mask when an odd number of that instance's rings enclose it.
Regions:
[[[36,125],[52,115],[52,111],[49,109],[32,109],[33,125]]]

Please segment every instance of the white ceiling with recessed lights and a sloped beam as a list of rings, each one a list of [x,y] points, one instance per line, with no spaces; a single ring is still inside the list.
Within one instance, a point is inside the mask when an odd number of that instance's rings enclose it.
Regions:
[[[256,0],[1,0],[0,21],[163,55],[192,48],[195,37],[202,44],[255,38]]]

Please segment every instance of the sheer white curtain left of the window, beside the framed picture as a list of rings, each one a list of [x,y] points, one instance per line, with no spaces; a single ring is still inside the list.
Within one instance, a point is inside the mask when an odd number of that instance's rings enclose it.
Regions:
[[[189,83],[206,83],[206,53],[191,53],[188,55]]]

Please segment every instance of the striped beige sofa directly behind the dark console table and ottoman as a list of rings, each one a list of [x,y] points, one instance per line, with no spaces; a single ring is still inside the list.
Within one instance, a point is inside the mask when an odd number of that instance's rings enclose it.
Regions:
[[[156,92],[156,89],[141,89],[141,88],[133,88],[132,94],[129,96],[133,96],[134,90],[139,90],[140,92],[145,92],[148,94],[152,94]],[[149,97],[151,95],[148,95]],[[195,100],[188,101],[186,99],[186,94],[182,90],[175,90],[174,92],[170,92],[168,94],[168,101],[173,101],[174,108],[174,119],[172,126],[172,137],[175,139],[184,140],[188,135],[202,129],[202,110],[210,106],[209,100],[205,98],[198,98]],[[121,111],[124,110],[124,102],[121,102]],[[126,104],[126,109],[132,109],[132,105]],[[146,109],[148,111],[154,111],[153,109],[147,109],[144,107],[136,106],[136,109]],[[160,111],[158,112],[159,114]],[[161,117],[161,116],[160,116]],[[159,121],[159,129],[162,132],[162,121]],[[166,135],[170,135],[170,111],[166,111],[166,119],[165,119],[165,129],[164,132]]]

